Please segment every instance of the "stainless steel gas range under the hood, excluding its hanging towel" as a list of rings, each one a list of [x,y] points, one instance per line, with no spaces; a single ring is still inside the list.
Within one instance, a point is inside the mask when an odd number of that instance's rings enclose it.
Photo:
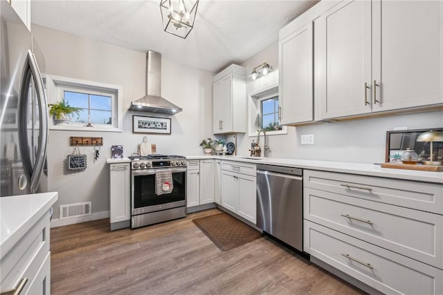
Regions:
[[[129,157],[131,162],[131,227],[143,227],[186,216],[186,158],[180,155]],[[156,171],[170,169],[171,193],[156,195]]]

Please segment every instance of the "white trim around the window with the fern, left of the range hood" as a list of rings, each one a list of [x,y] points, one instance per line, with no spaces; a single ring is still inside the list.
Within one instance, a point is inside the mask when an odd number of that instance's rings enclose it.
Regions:
[[[76,91],[78,88],[87,88],[89,91],[102,91],[109,93],[109,95],[114,95],[114,109],[115,119],[113,117],[113,122],[115,120],[116,125],[105,126],[101,124],[100,126],[79,126],[79,125],[54,125],[53,120],[49,118],[49,129],[50,130],[72,130],[72,131],[104,131],[104,132],[123,132],[123,112],[122,112],[122,102],[123,102],[123,87],[112,84],[91,82],[81,79],[73,79],[68,77],[60,77],[54,75],[47,75],[46,77],[46,95],[48,97],[48,104],[55,104],[60,101],[60,97],[63,97],[63,91]],[[114,94],[111,94],[114,93]]]

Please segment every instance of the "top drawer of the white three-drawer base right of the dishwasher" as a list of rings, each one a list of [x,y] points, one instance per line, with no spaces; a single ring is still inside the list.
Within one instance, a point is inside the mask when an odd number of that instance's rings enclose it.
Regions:
[[[305,170],[304,187],[443,214],[443,186],[390,178]]]

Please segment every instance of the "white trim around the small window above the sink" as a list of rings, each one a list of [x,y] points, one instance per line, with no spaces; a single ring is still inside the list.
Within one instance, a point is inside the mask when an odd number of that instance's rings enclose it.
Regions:
[[[267,84],[256,91],[248,93],[248,137],[257,136],[255,117],[257,117],[257,113],[262,112],[260,102],[275,96],[278,96],[278,82]],[[287,133],[287,126],[284,125],[282,126],[282,130],[266,131],[266,135],[281,135]]]

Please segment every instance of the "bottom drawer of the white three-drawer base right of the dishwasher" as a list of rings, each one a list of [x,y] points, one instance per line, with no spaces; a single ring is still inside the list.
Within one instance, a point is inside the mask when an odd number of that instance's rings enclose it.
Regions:
[[[385,294],[443,294],[443,270],[305,220],[312,256]]]

